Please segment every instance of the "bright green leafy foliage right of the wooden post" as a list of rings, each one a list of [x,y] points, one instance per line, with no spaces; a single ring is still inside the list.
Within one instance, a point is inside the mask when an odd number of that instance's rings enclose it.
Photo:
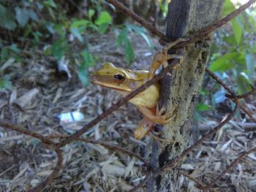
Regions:
[[[241,4],[233,4],[230,0],[225,0],[223,15],[233,12],[236,6]],[[220,79],[234,82],[233,90],[240,94],[250,91],[255,83],[253,80],[256,77],[256,46],[252,43],[256,34],[255,15],[253,9],[242,12],[231,20],[229,26],[217,31],[211,47],[211,52],[214,54],[209,60],[209,68]],[[219,98],[225,98],[224,95],[224,91],[217,92],[213,96],[214,101],[219,102]]]

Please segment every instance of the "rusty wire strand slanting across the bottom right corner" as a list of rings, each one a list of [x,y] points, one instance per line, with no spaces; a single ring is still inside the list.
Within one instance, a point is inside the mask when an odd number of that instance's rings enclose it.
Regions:
[[[215,183],[217,182],[217,180],[219,180],[224,174],[226,174],[227,172],[230,171],[230,169],[233,168],[233,166],[235,166],[236,164],[238,164],[238,162],[241,161],[242,158],[244,158],[246,155],[249,155],[249,153],[255,152],[256,151],[256,147],[252,148],[251,150],[245,151],[243,153],[241,153],[241,155],[238,156],[238,158],[236,158],[235,161],[232,162],[232,164],[230,164],[230,166],[227,166],[227,168],[221,173],[219,174],[212,182],[210,185],[202,185],[199,182],[197,183],[197,188],[200,188],[201,190],[207,190],[209,188],[211,188],[212,186],[215,185]]]

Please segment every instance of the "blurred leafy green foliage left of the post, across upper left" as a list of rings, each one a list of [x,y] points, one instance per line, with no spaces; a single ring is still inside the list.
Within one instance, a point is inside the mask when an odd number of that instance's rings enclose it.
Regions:
[[[31,45],[37,47],[41,42],[48,42],[44,45],[43,53],[45,56],[53,56],[60,61],[63,56],[71,58],[76,64],[78,77],[83,85],[89,83],[88,68],[95,63],[95,57],[90,53],[90,45],[86,34],[89,32],[105,34],[109,27],[116,28],[118,31],[117,45],[124,45],[124,56],[127,64],[131,64],[135,59],[132,42],[127,36],[128,33],[140,34],[149,46],[151,43],[146,37],[146,31],[130,24],[113,26],[113,19],[110,13],[105,10],[98,1],[96,7],[91,7],[88,15],[83,18],[67,18],[67,13],[60,9],[60,4],[54,0],[20,1],[12,6],[0,4],[0,27],[9,31],[23,31],[21,41],[26,42],[29,38]],[[52,42],[49,40],[52,39]],[[80,48],[77,50],[76,46]],[[4,63],[9,58],[21,61],[18,44],[1,44],[1,62]]]

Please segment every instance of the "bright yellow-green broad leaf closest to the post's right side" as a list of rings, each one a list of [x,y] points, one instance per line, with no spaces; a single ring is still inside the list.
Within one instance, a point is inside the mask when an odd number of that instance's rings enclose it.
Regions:
[[[231,62],[233,58],[239,57],[240,53],[227,53],[222,55],[221,57],[217,58],[213,61],[210,65],[210,69],[212,72],[217,71],[225,71],[226,69],[231,69],[234,64]]]

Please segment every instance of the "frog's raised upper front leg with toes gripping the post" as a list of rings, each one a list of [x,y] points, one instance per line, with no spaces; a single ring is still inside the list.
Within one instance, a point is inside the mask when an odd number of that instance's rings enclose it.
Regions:
[[[171,58],[178,58],[181,62],[183,60],[183,57],[176,54],[168,54],[168,50],[170,50],[171,47],[177,45],[179,42],[184,42],[186,39],[177,39],[175,42],[171,42],[169,45],[162,48],[161,52],[158,52],[154,55],[151,67],[149,69],[149,79],[154,77],[155,72],[163,64],[164,67],[167,66],[167,60]],[[174,69],[178,69],[178,66],[175,66]]]

